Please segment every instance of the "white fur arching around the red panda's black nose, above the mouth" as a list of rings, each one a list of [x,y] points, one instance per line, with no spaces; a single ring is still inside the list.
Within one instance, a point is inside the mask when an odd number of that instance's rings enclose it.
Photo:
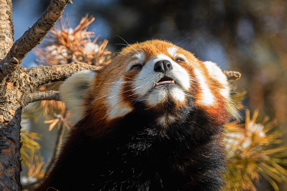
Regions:
[[[160,60],[170,61],[172,64],[171,75],[174,77],[174,81],[179,83],[179,85],[181,85],[185,90],[189,89],[190,84],[187,71],[179,64],[174,62],[170,57],[164,54],[159,54],[146,62],[136,78],[135,93],[137,93],[139,96],[146,95],[156,84],[155,76],[157,72],[154,71],[154,64]]]

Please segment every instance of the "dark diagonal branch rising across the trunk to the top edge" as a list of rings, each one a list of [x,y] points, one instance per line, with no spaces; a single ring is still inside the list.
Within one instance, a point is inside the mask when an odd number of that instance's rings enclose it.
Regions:
[[[51,0],[47,9],[38,21],[34,23],[32,28],[29,28],[18,40],[16,40],[6,57],[0,61],[0,73],[4,72],[7,76],[9,72],[13,72],[15,70],[16,67],[13,67],[13,65],[10,64],[11,62],[9,62],[13,57],[18,60],[19,65],[21,64],[28,52],[40,44],[46,34],[56,24],[57,20],[66,8],[67,3],[72,2],[71,0]],[[14,68],[14,70],[12,70],[12,68]],[[4,74],[1,76],[3,75]]]

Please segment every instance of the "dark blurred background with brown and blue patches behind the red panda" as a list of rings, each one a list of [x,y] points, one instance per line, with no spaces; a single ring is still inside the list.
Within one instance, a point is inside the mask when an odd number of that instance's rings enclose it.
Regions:
[[[32,27],[49,2],[13,1],[15,40]],[[65,13],[71,28],[86,13],[93,15],[95,21],[88,31],[95,30],[101,41],[107,39],[111,52],[117,52],[123,44],[162,39],[193,52],[201,60],[218,63],[222,70],[241,72],[236,86],[239,92],[247,91],[243,104],[251,113],[259,109],[259,115],[276,118],[278,126],[287,130],[285,0],[73,0]],[[22,66],[36,66],[35,60],[30,52]],[[48,139],[53,140],[53,136]],[[46,147],[48,150],[53,145]],[[273,188],[263,181],[258,190]],[[280,190],[287,190],[285,184]]]

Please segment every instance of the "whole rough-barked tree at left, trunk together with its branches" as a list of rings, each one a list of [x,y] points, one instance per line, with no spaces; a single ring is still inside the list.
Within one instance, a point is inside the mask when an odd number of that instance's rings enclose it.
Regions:
[[[53,81],[83,70],[97,70],[87,64],[24,68],[23,58],[55,25],[71,0],[52,0],[43,15],[13,44],[11,0],[0,0],[0,190],[21,190],[20,129],[23,108],[40,100],[59,100],[57,92],[35,92]]]

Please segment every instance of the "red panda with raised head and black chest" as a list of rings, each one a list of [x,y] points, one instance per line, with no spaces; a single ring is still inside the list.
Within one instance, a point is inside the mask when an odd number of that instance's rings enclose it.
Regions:
[[[149,40],[59,91],[73,128],[36,190],[223,189],[221,135],[237,111],[215,63]]]

